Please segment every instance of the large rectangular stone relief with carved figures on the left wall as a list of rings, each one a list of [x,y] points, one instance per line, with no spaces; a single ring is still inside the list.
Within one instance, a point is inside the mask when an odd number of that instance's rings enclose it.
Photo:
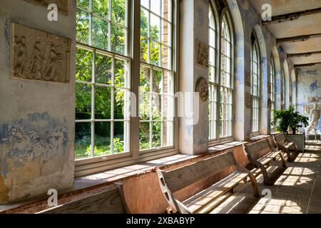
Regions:
[[[70,80],[71,39],[10,24],[10,68],[14,79]]]

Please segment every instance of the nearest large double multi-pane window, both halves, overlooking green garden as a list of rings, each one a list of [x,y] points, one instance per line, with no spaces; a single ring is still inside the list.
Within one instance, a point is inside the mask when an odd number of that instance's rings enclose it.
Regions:
[[[173,0],[76,4],[76,164],[176,150]]]

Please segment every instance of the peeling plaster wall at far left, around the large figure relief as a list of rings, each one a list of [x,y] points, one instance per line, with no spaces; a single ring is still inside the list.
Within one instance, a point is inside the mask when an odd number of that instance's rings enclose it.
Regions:
[[[75,1],[68,16],[26,1],[0,0],[0,203],[73,185]],[[72,38],[71,83],[12,80],[9,22]]]

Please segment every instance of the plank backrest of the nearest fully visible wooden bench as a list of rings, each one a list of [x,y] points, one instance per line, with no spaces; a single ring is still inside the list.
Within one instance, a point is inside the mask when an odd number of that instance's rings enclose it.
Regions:
[[[235,164],[233,151],[229,151],[215,157],[206,158],[174,170],[166,171],[163,173],[163,178],[168,189],[171,192],[176,192]]]

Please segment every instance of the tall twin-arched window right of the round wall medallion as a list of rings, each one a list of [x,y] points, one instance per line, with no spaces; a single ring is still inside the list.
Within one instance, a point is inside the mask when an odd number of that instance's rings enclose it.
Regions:
[[[209,140],[233,137],[233,39],[228,11],[220,19],[216,15],[215,7],[210,6]]]

